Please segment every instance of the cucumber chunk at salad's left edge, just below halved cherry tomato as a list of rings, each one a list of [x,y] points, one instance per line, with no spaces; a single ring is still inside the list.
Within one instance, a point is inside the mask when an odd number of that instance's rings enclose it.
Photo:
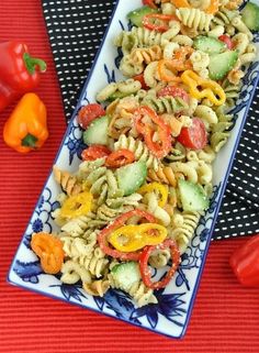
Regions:
[[[108,144],[109,117],[104,115],[93,120],[93,122],[83,132],[83,142],[87,145]]]

